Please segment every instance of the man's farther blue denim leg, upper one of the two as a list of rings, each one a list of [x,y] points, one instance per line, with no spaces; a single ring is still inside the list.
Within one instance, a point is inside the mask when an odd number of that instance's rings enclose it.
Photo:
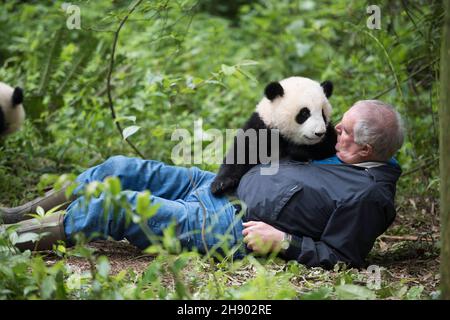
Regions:
[[[150,190],[155,196],[176,200],[185,199],[193,190],[209,183],[215,174],[197,167],[185,168],[155,160],[114,156],[80,174],[77,182],[81,185],[75,192],[85,184],[103,181],[108,176],[118,177],[122,190]]]

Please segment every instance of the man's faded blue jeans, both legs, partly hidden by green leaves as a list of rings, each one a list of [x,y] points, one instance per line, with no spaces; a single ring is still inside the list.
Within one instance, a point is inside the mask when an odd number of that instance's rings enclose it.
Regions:
[[[229,248],[242,244],[243,227],[242,220],[236,216],[237,209],[227,197],[215,197],[209,190],[214,173],[197,167],[115,156],[79,175],[77,190],[108,176],[120,179],[122,192],[133,210],[138,193],[150,190],[151,203],[160,204],[157,213],[147,222],[154,235],[162,236],[163,230],[175,222],[177,238],[187,249],[197,248],[205,253],[205,245],[210,250],[224,242]],[[125,210],[120,209],[118,214],[112,209],[104,213],[103,194],[85,202],[84,197],[79,197],[67,208],[64,231],[69,244],[74,243],[74,235],[79,232],[91,239],[108,236],[115,240],[127,239],[140,249],[151,244],[139,225],[125,223]],[[235,257],[241,256],[241,251]]]

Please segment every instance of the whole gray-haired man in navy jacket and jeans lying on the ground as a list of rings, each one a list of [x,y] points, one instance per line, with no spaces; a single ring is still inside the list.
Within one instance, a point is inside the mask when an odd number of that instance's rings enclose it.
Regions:
[[[77,178],[80,186],[75,194],[90,182],[118,176],[133,208],[139,192],[151,190],[151,202],[160,208],[149,219],[148,228],[161,236],[175,222],[177,237],[185,248],[207,252],[223,242],[237,246],[243,239],[248,250],[277,251],[286,260],[307,266],[332,268],[343,261],[362,267],[375,239],[395,218],[394,197],[401,170],[391,158],[403,143],[402,120],[389,105],[365,100],[344,114],[336,131],[335,157],[309,164],[283,161],[275,175],[260,175],[258,167],[250,170],[236,194],[247,205],[242,219],[233,201],[211,194],[213,173],[152,160],[110,158]],[[61,195],[52,193],[19,208],[0,209],[4,222],[23,220],[24,213],[37,205],[49,210],[64,202]],[[149,246],[141,227],[125,221],[124,210],[117,215],[112,210],[104,214],[104,195],[88,203],[79,197],[64,217],[22,221],[18,233],[49,232],[37,245],[42,250],[63,239],[72,245],[78,232],[91,238],[126,238],[139,248]],[[27,249],[34,245],[18,246]]]

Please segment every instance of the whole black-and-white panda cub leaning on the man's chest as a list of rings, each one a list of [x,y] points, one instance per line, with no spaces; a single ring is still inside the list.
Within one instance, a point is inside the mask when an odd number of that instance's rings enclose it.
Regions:
[[[266,150],[270,151],[270,130],[278,129],[279,159],[309,161],[331,157],[336,152],[337,140],[330,121],[332,110],[328,102],[332,91],[333,84],[330,81],[319,83],[308,78],[290,77],[272,82],[266,86],[265,97],[256,106],[256,111],[245,123],[241,133],[245,135],[249,129],[256,132],[266,129]],[[211,184],[214,195],[233,191],[248,170],[264,163],[258,152],[260,135],[256,134],[256,137],[256,141],[245,139],[245,161],[242,161],[242,157],[238,161],[238,136],[234,137],[232,149],[228,151]],[[257,163],[254,161],[255,153]]]

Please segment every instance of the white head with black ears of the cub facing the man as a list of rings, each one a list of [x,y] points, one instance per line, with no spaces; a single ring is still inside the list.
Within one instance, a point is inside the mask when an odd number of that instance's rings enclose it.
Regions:
[[[291,77],[272,82],[256,107],[263,122],[288,140],[302,145],[320,142],[331,117],[328,98],[333,92],[329,81]]]

